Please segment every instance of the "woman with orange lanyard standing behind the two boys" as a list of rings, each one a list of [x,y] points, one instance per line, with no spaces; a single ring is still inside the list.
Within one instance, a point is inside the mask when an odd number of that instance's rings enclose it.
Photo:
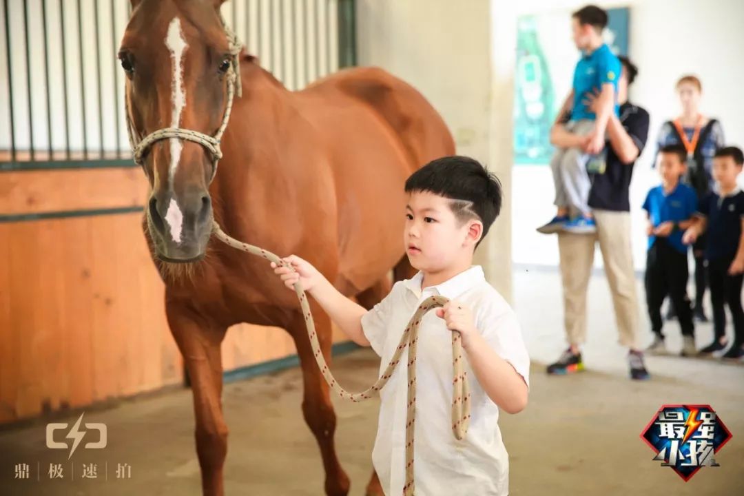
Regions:
[[[683,181],[693,187],[698,199],[703,199],[713,190],[713,156],[723,146],[723,129],[718,120],[706,117],[700,110],[702,84],[692,75],[684,76],[676,85],[682,114],[674,120],[668,120],[661,126],[658,134],[657,150],[672,144],[681,144],[687,150],[687,174]],[[658,155],[658,151],[657,151]],[[653,164],[656,164],[654,158]],[[652,165],[652,167],[654,167]],[[695,304],[693,315],[697,321],[707,322],[703,310],[703,297],[708,286],[705,276],[705,237],[697,239],[693,245],[695,257]],[[667,319],[675,318],[676,312],[670,301]]]

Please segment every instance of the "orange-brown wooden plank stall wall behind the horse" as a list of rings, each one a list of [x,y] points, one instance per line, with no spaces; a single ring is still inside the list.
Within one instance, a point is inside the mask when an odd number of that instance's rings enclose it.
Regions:
[[[183,384],[146,198],[136,168],[0,173],[0,423]],[[222,350],[228,371],[295,354],[283,329],[248,325]]]

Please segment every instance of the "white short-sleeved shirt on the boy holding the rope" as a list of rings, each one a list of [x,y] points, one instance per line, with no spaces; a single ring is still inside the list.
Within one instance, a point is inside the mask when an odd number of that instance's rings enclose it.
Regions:
[[[423,300],[433,294],[458,299],[475,314],[475,326],[490,347],[529,384],[527,356],[516,315],[474,265],[438,286],[421,291],[423,274],[395,283],[390,294],[362,317],[362,329],[385,369]],[[465,439],[452,434],[452,333],[435,311],[419,329],[416,363],[414,474],[416,496],[506,496],[509,457],[498,428],[498,407],[486,395],[467,362],[471,418]],[[380,391],[381,405],[372,461],[385,495],[403,494],[405,483],[405,412],[408,350]]]

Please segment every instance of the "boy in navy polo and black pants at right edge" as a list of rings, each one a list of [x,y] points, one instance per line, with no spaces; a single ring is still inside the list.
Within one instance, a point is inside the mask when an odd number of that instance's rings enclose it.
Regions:
[[[736,146],[725,146],[713,158],[713,179],[716,187],[700,202],[699,218],[684,233],[684,242],[690,244],[708,232],[705,260],[708,261],[708,282],[713,303],[713,343],[701,353],[722,352],[728,346],[726,339],[726,313],[728,304],[734,320],[734,342],[723,358],[744,358],[744,309],[742,309],[742,283],[744,272],[744,192],[737,184],[737,177],[744,166],[744,153]]]

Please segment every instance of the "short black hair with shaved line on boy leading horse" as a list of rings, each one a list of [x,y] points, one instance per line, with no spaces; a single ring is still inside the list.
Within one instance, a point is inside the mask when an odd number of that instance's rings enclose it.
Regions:
[[[501,212],[501,181],[480,162],[461,155],[437,158],[405,181],[405,193],[428,191],[452,199],[449,207],[460,222],[483,222],[483,241]]]

